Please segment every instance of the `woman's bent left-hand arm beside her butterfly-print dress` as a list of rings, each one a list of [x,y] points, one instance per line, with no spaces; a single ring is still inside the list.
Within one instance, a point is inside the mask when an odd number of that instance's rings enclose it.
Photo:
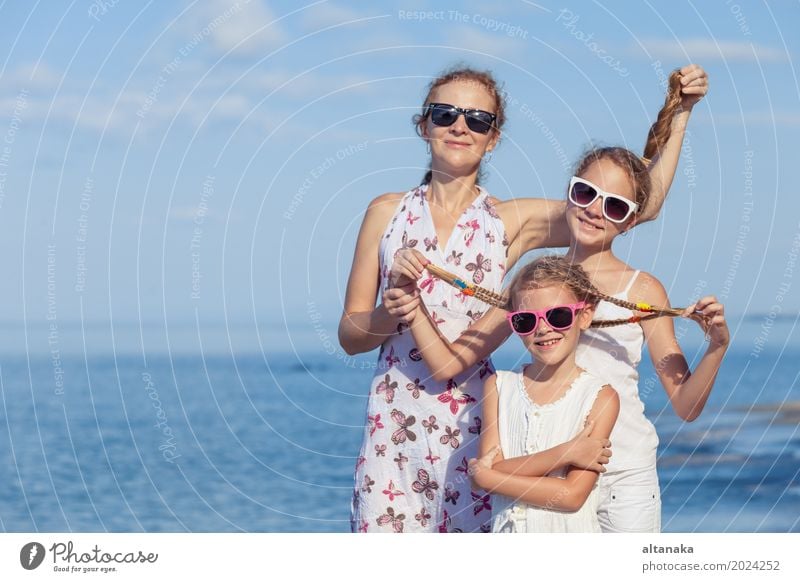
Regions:
[[[380,239],[401,198],[402,194],[394,193],[379,196],[370,203],[361,223],[339,322],[339,343],[350,355],[375,349],[397,331],[397,317],[383,304],[376,307],[375,301],[380,286]]]

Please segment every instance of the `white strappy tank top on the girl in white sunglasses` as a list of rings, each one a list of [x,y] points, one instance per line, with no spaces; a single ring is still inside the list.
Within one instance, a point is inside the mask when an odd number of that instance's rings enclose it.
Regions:
[[[628,301],[628,292],[638,275],[636,271],[625,289],[613,297]],[[601,301],[594,319],[621,319],[632,315],[629,309]],[[575,362],[581,368],[606,378],[619,394],[619,417],[611,432],[613,455],[606,466],[606,474],[655,466],[658,435],[653,423],[645,417],[644,404],[639,399],[637,366],[642,359],[643,344],[644,332],[638,323],[590,328],[581,333],[575,353]]]

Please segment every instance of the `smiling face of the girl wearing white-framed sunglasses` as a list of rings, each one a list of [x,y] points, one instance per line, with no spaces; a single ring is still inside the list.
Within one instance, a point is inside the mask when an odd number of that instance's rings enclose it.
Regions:
[[[601,159],[594,162],[580,177],[606,192],[636,201],[630,176],[611,160]],[[567,224],[573,244],[609,248],[614,237],[633,226],[634,220],[635,215],[631,215],[623,223],[608,220],[603,216],[603,199],[600,196],[586,208],[573,204],[567,197]]]

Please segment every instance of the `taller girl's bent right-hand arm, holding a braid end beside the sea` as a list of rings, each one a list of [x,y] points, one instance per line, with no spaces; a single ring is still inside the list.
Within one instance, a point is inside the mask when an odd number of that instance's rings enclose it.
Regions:
[[[667,292],[651,275],[639,275],[633,292],[647,303],[669,307]],[[704,297],[684,312],[700,323],[709,338],[708,349],[695,368],[689,369],[678,340],[675,326],[667,317],[642,321],[648,351],[672,408],[682,419],[692,421],[700,416],[708,400],[725,351],[730,343],[724,307],[714,297]]]

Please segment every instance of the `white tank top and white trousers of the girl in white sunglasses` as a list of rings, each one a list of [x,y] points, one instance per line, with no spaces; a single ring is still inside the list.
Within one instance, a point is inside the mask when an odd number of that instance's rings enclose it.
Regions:
[[[615,298],[628,294],[639,271]],[[631,317],[633,312],[601,301],[594,319]],[[638,323],[581,333],[575,362],[584,370],[608,380],[619,394],[620,410],[611,432],[613,455],[600,480],[598,514],[604,532],[658,532],[661,529],[661,494],[656,471],[658,435],[644,415],[639,395],[639,362],[644,332]],[[657,380],[656,380],[657,382]],[[653,387],[647,387],[652,390]],[[646,395],[646,393],[645,393]]]

